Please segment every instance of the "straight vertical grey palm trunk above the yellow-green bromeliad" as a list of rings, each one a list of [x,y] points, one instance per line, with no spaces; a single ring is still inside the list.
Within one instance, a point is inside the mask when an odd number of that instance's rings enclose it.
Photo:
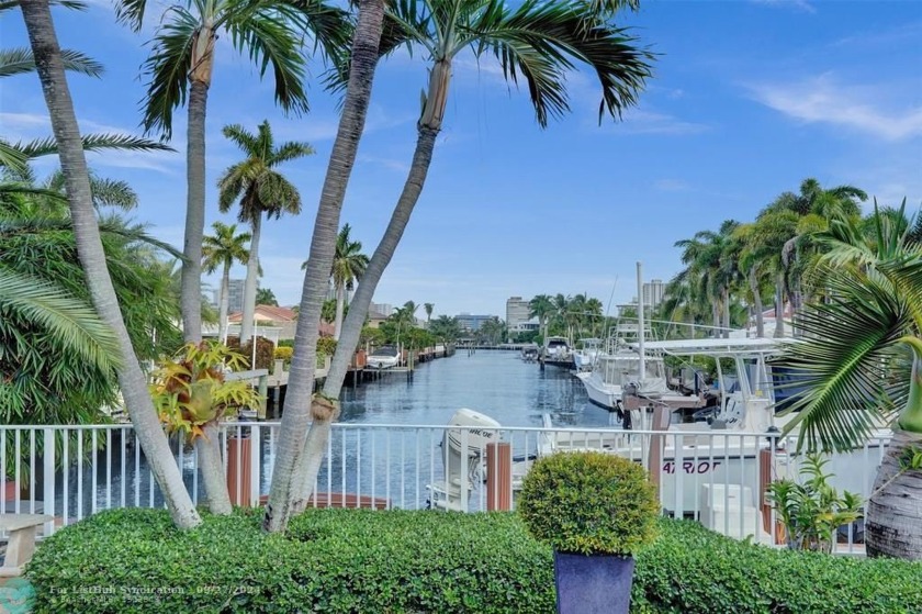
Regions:
[[[205,110],[214,60],[214,32],[203,26],[192,43],[189,131],[185,136],[185,237],[180,278],[182,336],[202,341],[202,239],[205,234]]]

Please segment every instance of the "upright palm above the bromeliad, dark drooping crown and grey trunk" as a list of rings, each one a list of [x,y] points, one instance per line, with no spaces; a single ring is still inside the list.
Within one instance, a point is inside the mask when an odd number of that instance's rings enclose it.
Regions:
[[[122,0],[121,21],[135,31],[143,25],[146,0]],[[272,66],[276,101],[285,111],[307,110],[304,90],[303,36],[310,34],[323,53],[338,58],[348,41],[345,12],[322,0],[187,0],[161,16],[150,56],[144,102],[145,131],[172,134],[173,110],[187,102],[187,210],[182,268],[182,324],[187,342],[200,342],[202,237],[205,226],[205,114],[214,71],[215,41],[225,34],[235,49],[259,67]]]

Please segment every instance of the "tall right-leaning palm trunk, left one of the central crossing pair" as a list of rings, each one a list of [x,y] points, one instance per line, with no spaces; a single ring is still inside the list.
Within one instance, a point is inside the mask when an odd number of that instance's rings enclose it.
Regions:
[[[307,427],[313,413],[311,392],[314,386],[321,311],[336,252],[339,212],[368,115],[383,21],[384,0],[359,2],[359,15],[352,38],[349,85],[346,89],[339,129],[333,144],[311,239],[311,254],[304,275],[301,311],[295,331],[290,383],[282,414],[276,466],[272,471],[272,487],[262,520],[263,529],[270,532],[284,531],[292,513],[294,475],[305,447]],[[349,311],[350,314],[351,311]],[[326,420],[315,417],[315,428],[312,432],[317,431],[318,427],[328,429],[329,422],[334,417],[334,415],[326,416]]]

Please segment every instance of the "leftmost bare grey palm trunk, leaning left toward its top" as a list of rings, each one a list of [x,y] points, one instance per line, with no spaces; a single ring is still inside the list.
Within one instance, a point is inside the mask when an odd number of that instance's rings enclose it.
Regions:
[[[64,75],[60,47],[55,33],[47,0],[23,2],[22,14],[48,113],[58,144],[60,168],[64,172],[77,254],[87,276],[87,283],[100,317],[115,333],[122,354],[119,383],[128,408],[138,443],[150,470],[160,485],[173,523],[180,528],[191,528],[202,521],[182,482],[182,475],[170,450],[167,436],[154,410],[147,381],[140,370],[128,337],[112,279],[105,264],[105,253],[99,235],[95,210],[90,192],[89,171],[80,141],[80,130],[74,112],[74,102]]]

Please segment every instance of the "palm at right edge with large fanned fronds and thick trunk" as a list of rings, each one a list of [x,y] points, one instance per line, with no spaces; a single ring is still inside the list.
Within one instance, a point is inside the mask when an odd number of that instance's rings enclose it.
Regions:
[[[866,509],[866,546],[922,559],[922,246],[877,211],[875,225],[872,242],[841,217],[816,237],[829,250],[820,263],[827,295],[805,306],[798,326],[807,339],[780,361],[803,387],[786,432],[799,426],[801,446],[848,451],[896,414]]]

